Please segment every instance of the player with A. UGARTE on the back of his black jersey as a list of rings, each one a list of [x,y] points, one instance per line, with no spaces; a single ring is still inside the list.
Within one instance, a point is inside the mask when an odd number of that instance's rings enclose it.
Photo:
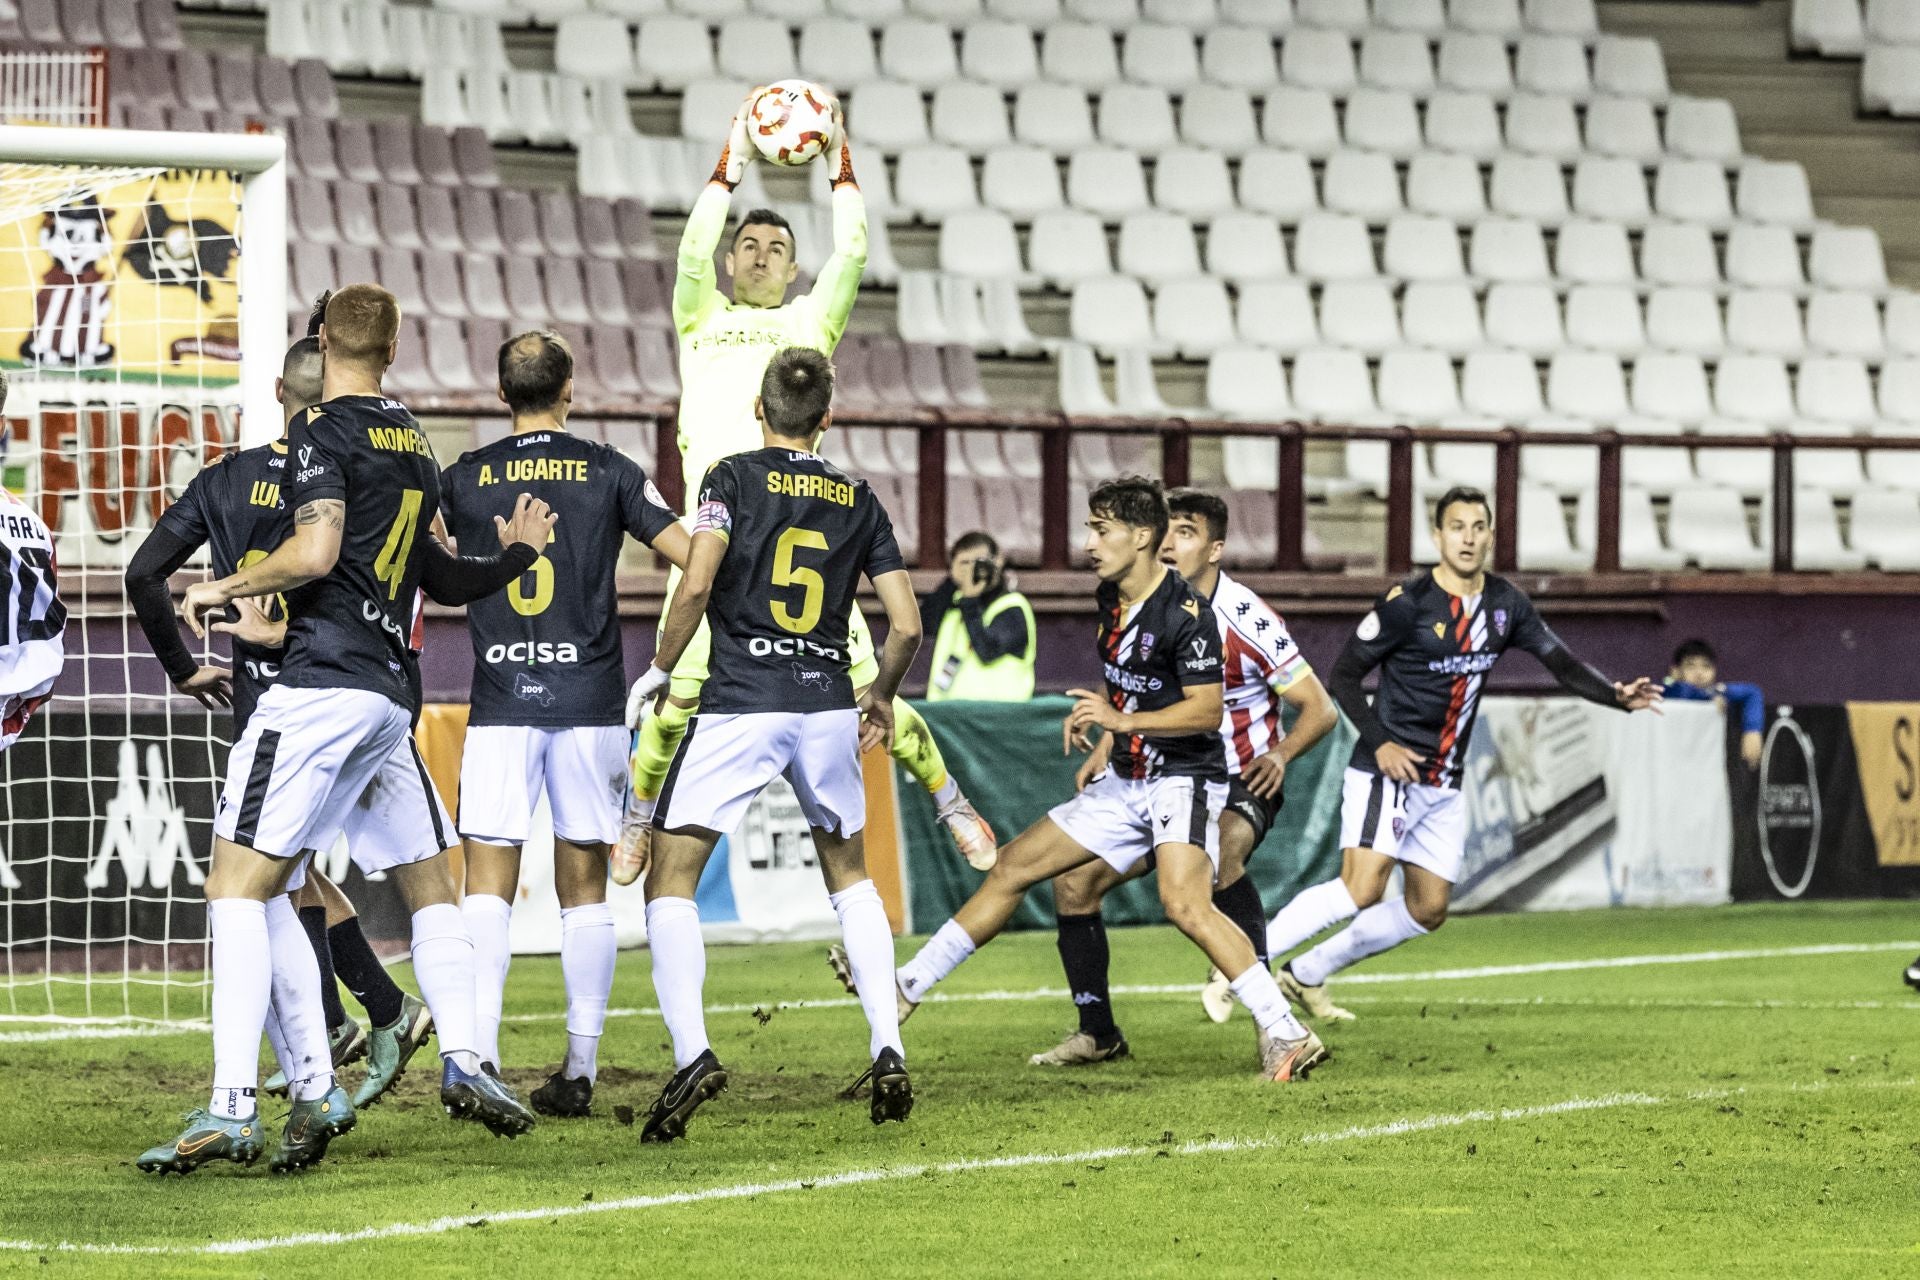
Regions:
[[[684,566],[687,532],[637,462],[568,434],[574,355],[564,338],[536,330],[501,344],[499,397],[513,434],[461,455],[440,478],[455,545],[490,541],[493,518],[511,512],[522,489],[545,499],[559,524],[522,578],[467,608],[474,677],[461,756],[461,915],[474,940],[480,1057],[497,1063],[520,844],[545,793],[566,1057],[532,1103],[541,1115],[588,1115],[612,992],[607,854],[620,839],[628,756],[614,564],[632,535]]]

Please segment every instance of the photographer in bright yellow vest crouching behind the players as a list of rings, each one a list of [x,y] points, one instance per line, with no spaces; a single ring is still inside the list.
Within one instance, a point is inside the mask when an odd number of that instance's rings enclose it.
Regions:
[[[1033,697],[1033,604],[1014,591],[991,533],[962,533],[948,581],[927,599],[929,702],[1025,702]]]

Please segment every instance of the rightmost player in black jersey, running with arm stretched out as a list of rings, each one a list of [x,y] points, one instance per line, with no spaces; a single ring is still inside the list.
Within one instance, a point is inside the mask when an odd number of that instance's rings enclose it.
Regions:
[[[1281,988],[1319,1017],[1352,1017],[1327,998],[1329,977],[1446,923],[1467,841],[1459,791],[1467,739],[1501,652],[1524,649],[1563,689],[1599,706],[1634,712],[1661,702],[1653,679],[1622,685],[1580,662],[1524,591],[1486,572],[1494,549],[1486,493],[1440,495],[1434,547],[1440,564],[1380,597],[1327,681],[1359,729],[1340,800],[1340,875],[1304,889],[1267,927],[1267,954],[1284,956],[1354,917],[1281,969]],[[1361,681],[1375,668],[1380,687],[1369,706]],[[1380,902],[1396,864],[1405,898]]]

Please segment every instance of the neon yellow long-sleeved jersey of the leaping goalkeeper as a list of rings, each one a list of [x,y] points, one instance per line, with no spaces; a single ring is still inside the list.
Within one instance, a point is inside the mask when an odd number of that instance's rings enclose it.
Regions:
[[[858,186],[843,182],[833,188],[833,255],[820,269],[814,292],[783,307],[739,307],[720,294],[714,271],[730,205],[732,192],[708,182],[680,236],[674,328],[680,330],[680,457],[687,510],[707,468],[762,445],[753,397],[760,393],[774,351],[812,347],[833,355],[866,271],[866,201]]]

